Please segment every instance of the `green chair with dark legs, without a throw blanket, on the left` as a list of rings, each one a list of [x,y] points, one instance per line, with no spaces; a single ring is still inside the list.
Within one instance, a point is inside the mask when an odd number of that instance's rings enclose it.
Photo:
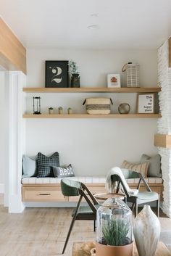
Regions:
[[[70,238],[70,234],[72,231],[72,227],[74,226],[75,220],[93,220],[93,231],[96,230],[96,210],[100,205],[84,183],[64,178],[61,180],[61,189],[64,197],[80,196],[77,206],[72,211],[72,221],[70,223],[67,239],[64,243],[64,248],[62,251],[63,254],[67,247],[67,242]],[[88,205],[80,205],[83,198],[86,199]]]

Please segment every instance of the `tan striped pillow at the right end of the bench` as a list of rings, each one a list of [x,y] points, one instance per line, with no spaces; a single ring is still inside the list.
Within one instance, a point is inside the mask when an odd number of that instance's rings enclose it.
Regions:
[[[144,178],[146,178],[148,168],[149,168],[149,162],[143,162],[141,164],[133,164],[125,160],[122,163],[122,168],[125,168],[128,170],[135,170],[136,172],[141,173]]]

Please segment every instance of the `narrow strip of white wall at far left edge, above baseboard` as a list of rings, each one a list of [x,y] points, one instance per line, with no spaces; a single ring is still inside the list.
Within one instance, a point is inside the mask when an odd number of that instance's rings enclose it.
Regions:
[[[5,73],[4,71],[0,71],[0,110],[1,110],[1,125],[0,125],[0,193],[4,193],[4,121],[5,121]]]

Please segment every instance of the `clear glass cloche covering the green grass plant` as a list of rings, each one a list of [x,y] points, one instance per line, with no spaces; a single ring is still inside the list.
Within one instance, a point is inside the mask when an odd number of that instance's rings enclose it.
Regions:
[[[132,242],[132,211],[122,199],[107,199],[97,210],[96,243],[124,246]]]

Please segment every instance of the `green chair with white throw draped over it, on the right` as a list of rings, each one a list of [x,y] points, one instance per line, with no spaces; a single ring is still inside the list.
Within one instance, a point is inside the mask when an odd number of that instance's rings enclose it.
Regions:
[[[138,214],[138,205],[141,204],[147,204],[149,202],[157,202],[157,217],[159,217],[159,194],[157,192],[151,191],[148,183],[146,183],[146,180],[143,178],[141,173],[135,172],[133,170],[127,170],[127,169],[121,169],[122,173],[124,175],[125,179],[129,178],[139,178],[138,186],[136,189],[138,189],[138,194],[131,195],[128,190],[125,188],[124,183],[122,182],[120,176],[112,175],[112,182],[117,181],[117,193],[120,190],[120,185],[122,186],[123,191],[126,195],[126,201],[132,203],[132,210],[135,209],[135,216]],[[141,183],[146,188],[146,191],[139,191]]]

